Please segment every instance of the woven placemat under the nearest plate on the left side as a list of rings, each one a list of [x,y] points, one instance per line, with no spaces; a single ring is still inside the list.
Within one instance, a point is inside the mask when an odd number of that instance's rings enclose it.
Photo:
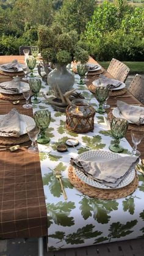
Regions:
[[[29,136],[23,134],[20,137],[2,137],[0,136],[0,144],[2,145],[15,145],[29,141]]]

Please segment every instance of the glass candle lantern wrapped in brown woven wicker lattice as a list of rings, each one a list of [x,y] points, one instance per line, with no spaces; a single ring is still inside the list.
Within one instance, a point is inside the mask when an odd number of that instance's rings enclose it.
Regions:
[[[66,128],[74,133],[88,133],[94,128],[95,109],[84,99],[71,101],[66,109]]]

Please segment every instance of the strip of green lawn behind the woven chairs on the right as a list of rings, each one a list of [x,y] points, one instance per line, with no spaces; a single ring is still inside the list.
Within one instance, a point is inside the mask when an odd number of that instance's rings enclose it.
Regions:
[[[105,69],[109,66],[110,61],[99,62]],[[123,61],[130,68],[130,74],[144,74],[144,62]]]

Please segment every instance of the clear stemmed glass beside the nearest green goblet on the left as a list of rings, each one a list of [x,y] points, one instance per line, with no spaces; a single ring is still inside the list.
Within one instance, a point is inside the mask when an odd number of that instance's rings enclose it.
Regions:
[[[40,133],[40,128],[34,125],[27,126],[26,128],[27,134],[29,136],[29,139],[32,141],[31,147],[28,148],[29,153],[37,153],[38,147],[36,145],[38,134]]]

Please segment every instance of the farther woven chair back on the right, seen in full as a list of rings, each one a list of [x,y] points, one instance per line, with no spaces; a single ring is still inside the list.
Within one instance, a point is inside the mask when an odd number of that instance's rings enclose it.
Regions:
[[[123,62],[120,62],[120,60],[117,59],[111,60],[107,71],[113,76],[113,78],[122,82],[126,81],[129,74],[129,68],[123,64]]]

